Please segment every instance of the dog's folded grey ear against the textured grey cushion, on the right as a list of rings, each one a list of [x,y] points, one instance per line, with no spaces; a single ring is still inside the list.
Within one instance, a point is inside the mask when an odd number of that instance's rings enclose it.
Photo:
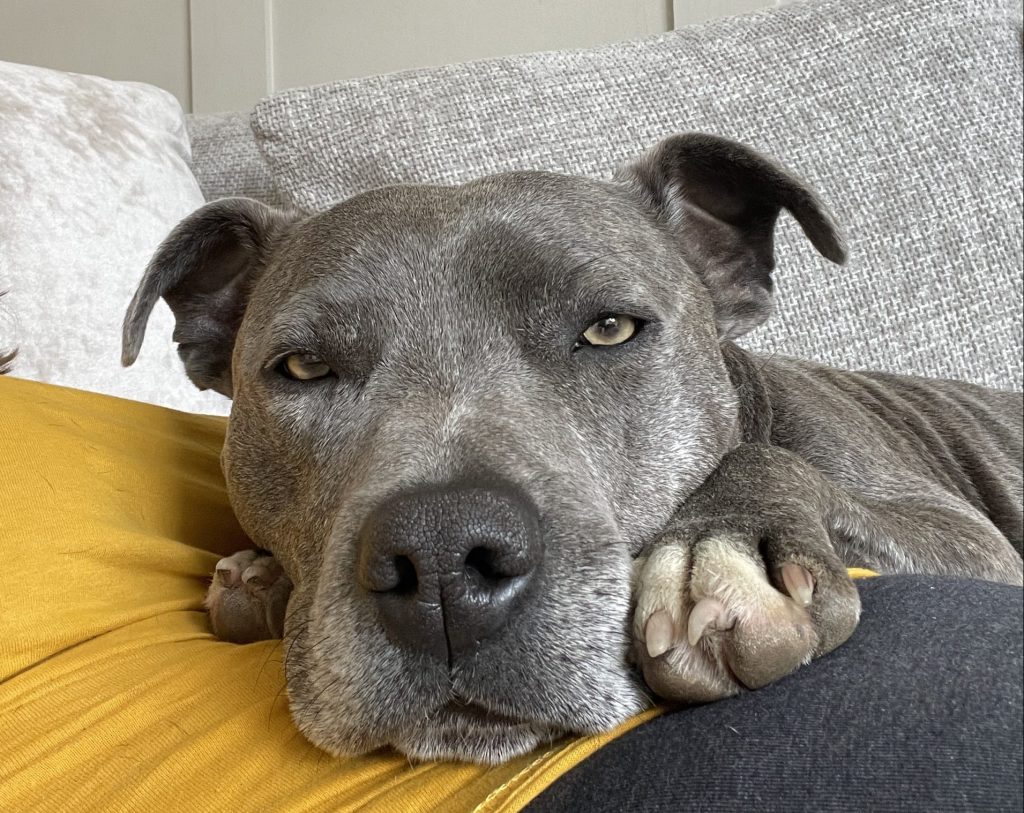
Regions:
[[[771,313],[775,220],[788,210],[824,257],[846,261],[828,210],[800,179],[735,141],[687,133],[668,138],[615,179],[676,236],[715,304],[722,340]]]

